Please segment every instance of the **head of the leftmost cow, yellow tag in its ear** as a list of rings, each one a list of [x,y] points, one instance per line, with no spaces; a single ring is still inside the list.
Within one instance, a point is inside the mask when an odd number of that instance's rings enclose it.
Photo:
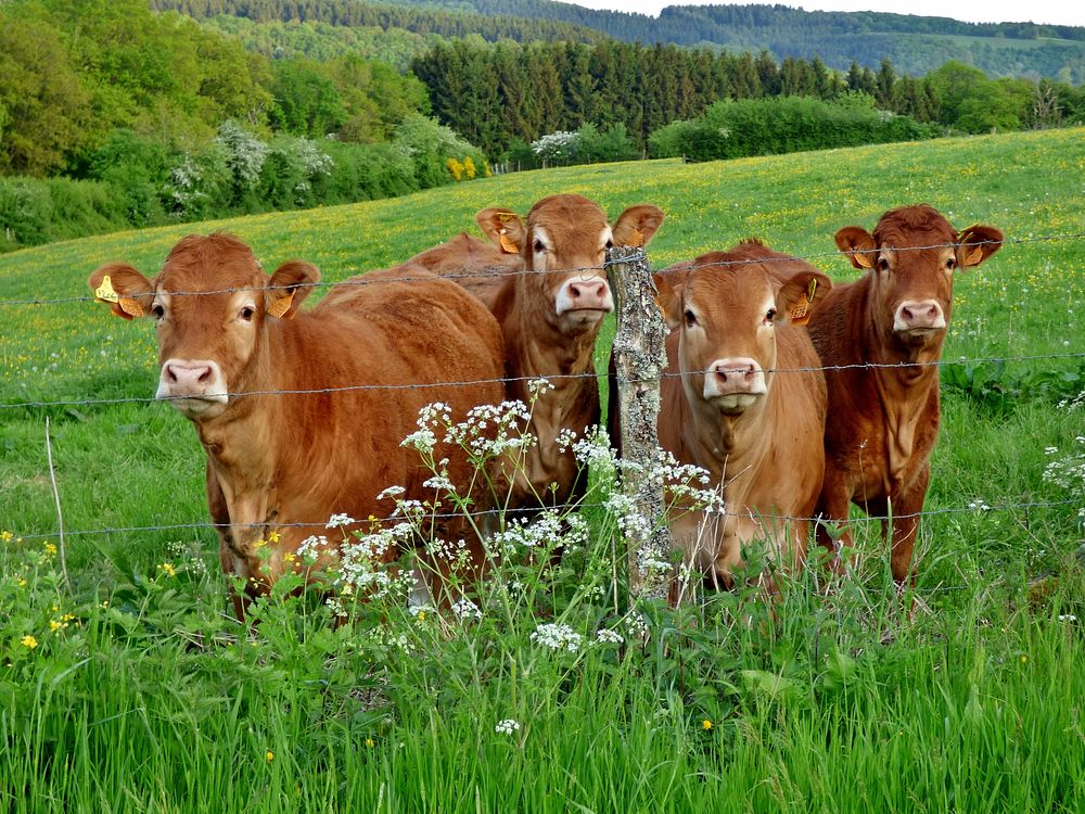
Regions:
[[[118,317],[149,317],[158,333],[157,398],[193,421],[220,416],[238,392],[267,333],[267,319],[290,319],[320,279],[301,260],[269,278],[252,251],[229,234],[183,238],[157,277],[124,263],[88,282]]]

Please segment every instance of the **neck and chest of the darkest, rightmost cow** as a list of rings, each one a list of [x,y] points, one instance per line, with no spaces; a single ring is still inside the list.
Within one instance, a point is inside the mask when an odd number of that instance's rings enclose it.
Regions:
[[[866,313],[870,313],[869,310]],[[885,418],[885,456],[882,488],[886,495],[899,492],[906,469],[916,446],[916,433],[923,420],[930,420],[924,409],[931,397],[937,403],[939,367],[944,338],[933,343],[911,347],[890,332],[879,333],[873,320],[863,323],[863,347],[875,348],[869,360],[879,365],[901,367],[875,368],[872,380]],[[918,365],[917,367],[908,367]],[[933,391],[933,394],[932,394]]]

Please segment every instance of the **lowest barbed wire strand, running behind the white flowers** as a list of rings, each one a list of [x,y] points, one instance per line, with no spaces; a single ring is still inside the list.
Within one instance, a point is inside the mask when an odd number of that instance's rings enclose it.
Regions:
[[[942,517],[948,514],[986,514],[991,512],[1005,512],[1014,511],[1020,509],[1054,509],[1061,508],[1065,506],[1076,506],[1080,504],[1080,499],[1068,498],[1065,500],[1032,500],[1026,503],[1001,503],[996,506],[990,506],[981,499],[973,501],[971,506],[958,506],[958,507],[946,507],[943,509],[930,509],[924,511],[916,511],[906,514],[865,514],[861,517],[848,518],[846,521],[832,521],[839,522],[841,524],[851,523],[881,523],[890,520],[915,520],[930,517]],[[556,504],[552,506],[547,506],[548,509],[554,509],[560,511],[573,511],[582,509],[610,509],[610,504],[607,503],[565,503]],[[498,517],[506,516],[509,518],[515,518],[522,516],[525,510],[523,509],[483,509],[478,511],[458,511],[458,512],[427,512],[421,516],[422,520],[451,520],[457,518],[485,518],[485,517]],[[774,514],[770,512],[728,512],[736,517],[752,517],[756,520],[771,520],[771,521],[782,521],[789,523],[806,522],[806,523],[821,523],[828,522],[822,517],[797,517],[794,514]],[[383,518],[366,519],[355,521],[352,525],[356,524],[371,524],[373,526],[379,526],[387,523],[394,523],[405,520],[404,514],[388,514]],[[328,522],[312,522],[312,523],[212,523],[212,522],[192,522],[192,523],[174,523],[167,525],[133,525],[133,526],[107,526],[104,529],[85,529],[81,531],[68,531],[64,530],[65,537],[80,537],[80,536],[104,536],[107,534],[142,534],[150,532],[179,532],[179,531],[197,531],[197,530],[218,530],[218,529],[261,529],[270,527],[273,530],[281,529],[324,529],[333,530],[340,527],[339,525],[331,525]],[[31,534],[20,534],[16,536],[21,540],[38,540],[38,539],[51,539],[56,537],[56,532],[35,532]]]

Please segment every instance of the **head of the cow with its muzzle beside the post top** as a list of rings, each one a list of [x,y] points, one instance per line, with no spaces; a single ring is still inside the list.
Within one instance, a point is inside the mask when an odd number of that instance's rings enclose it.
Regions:
[[[607,215],[580,195],[551,195],[527,214],[527,222],[508,209],[483,209],[475,218],[502,252],[519,254],[528,274],[518,284],[535,300],[562,334],[599,328],[614,310],[603,270],[611,246],[643,246],[663,222],[656,206],[631,206],[611,228]]]

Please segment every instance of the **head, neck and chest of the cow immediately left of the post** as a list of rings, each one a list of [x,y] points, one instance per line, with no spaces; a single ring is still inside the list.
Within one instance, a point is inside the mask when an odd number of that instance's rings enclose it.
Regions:
[[[510,505],[579,499],[585,473],[557,438],[563,430],[582,435],[599,423],[595,345],[603,317],[614,309],[605,253],[612,245],[646,245],[663,212],[630,206],[612,229],[598,204],[560,194],[536,203],[526,222],[500,208],[483,209],[476,220],[503,252],[519,252],[522,274],[505,277],[490,305],[505,339],[506,396],[529,404],[529,382],[544,377],[553,387],[535,398],[527,429],[538,444],[521,461]]]

